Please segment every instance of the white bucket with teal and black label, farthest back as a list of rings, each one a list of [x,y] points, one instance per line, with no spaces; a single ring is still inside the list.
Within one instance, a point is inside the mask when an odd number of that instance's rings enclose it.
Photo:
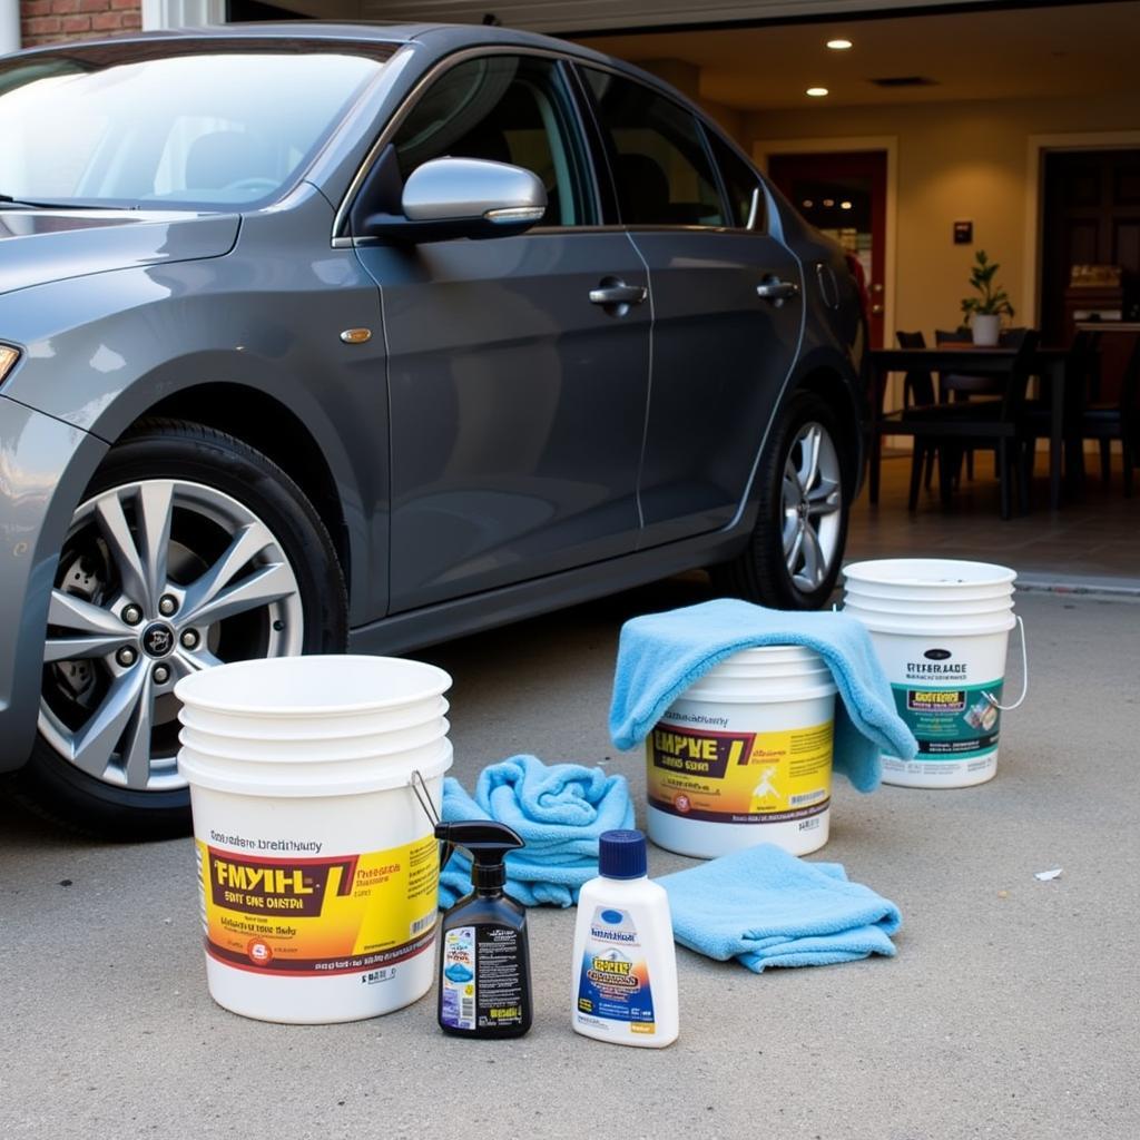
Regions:
[[[919,742],[912,760],[882,758],[883,783],[969,788],[992,780],[1017,624],[1015,572],[984,562],[889,559],[854,563],[844,575],[844,612],[866,626],[898,715]]]

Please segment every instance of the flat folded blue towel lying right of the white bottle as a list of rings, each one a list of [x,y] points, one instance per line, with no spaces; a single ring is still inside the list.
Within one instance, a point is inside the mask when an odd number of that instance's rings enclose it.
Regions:
[[[888,936],[902,926],[898,907],[848,882],[840,863],[805,863],[760,844],[657,881],[677,942],[755,974],[895,954]]]

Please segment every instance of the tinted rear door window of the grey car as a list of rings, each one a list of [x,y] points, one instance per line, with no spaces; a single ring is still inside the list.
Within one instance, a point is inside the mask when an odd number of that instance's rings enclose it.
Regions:
[[[634,80],[584,67],[610,145],[626,226],[724,226],[720,193],[697,120]]]

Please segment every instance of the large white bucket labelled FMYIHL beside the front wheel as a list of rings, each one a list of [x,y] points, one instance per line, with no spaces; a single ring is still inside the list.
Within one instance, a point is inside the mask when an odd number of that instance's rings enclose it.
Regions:
[[[218,1004],[351,1021],[431,988],[439,857],[412,780],[439,805],[449,685],[416,661],[302,657],[176,686]]]

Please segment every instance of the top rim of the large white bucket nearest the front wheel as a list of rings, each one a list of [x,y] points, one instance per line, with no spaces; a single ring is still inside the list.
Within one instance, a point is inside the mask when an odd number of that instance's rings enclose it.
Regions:
[[[384,700],[370,699],[367,701],[344,701],[341,703],[298,707],[295,705],[259,705],[237,703],[210,695],[210,689],[233,683],[242,675],[250,673],[269,674],[271,671],[285,671],[287,669],[351,669],[351,668],[386,668],[398,663],[401,668],[418,671],[426,681],[432,678],[432,684],[420,693],[399,693],[397,697]],[[184,677],[174,686],[174,695],[184,703],[201,708],[209,712],[223,712],[235,716],[267,716],[285,720],[312,720],[326,717],[337,717],[357,712],[380,712],[385,709],[401,708],[407,705],[415,705],[421,700],[429,700],[439,697],[451,687],[451,676],[438,666],[429,665],[426,661],[415,661],[410,658],[400,657],[372,657],[364,653],[323,653],[303,657],[274,657],[259,658],[253,661],[231,661],[219,665],[212,669],[203,669],[201,673],[190,674]],[[205,690],[201,693],[199,690]]]

